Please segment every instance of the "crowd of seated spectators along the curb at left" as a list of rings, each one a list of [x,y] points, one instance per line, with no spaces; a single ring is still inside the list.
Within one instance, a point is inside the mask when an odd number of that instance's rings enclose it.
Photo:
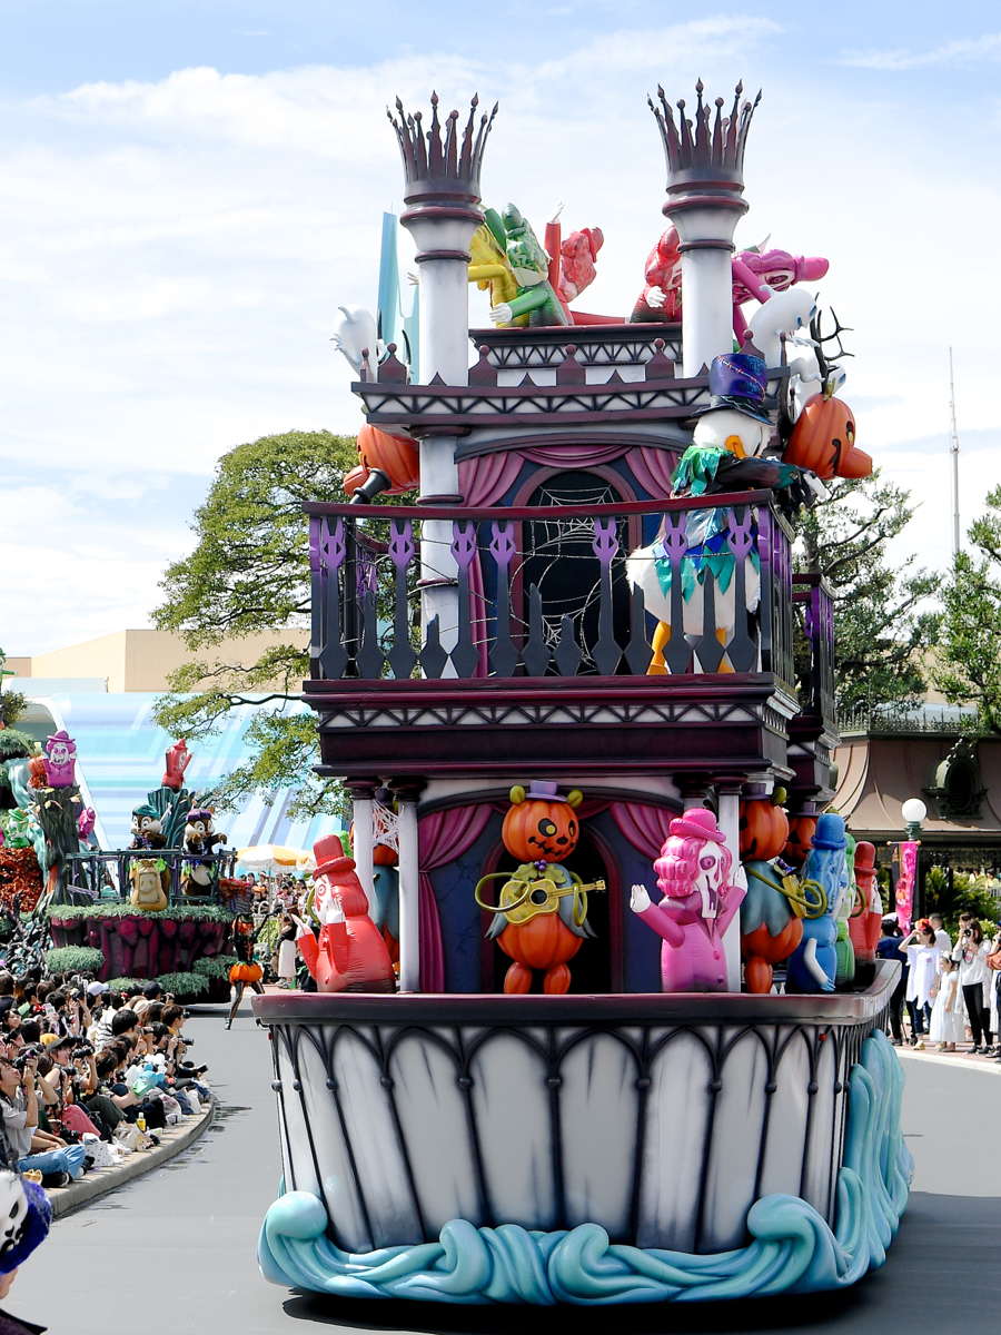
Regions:
[[[200,1116],[211,1093],[184,1020],[159,983],[112,993],[87,975],[0,972],[0,1115],[17,1169],[64,1187]]]

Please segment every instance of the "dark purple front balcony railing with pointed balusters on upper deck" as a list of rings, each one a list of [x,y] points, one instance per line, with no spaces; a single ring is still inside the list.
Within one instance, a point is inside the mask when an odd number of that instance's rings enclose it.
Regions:
[[[314,680],[771,673],[794,696],[767,491],[593,506],[307,505]],[[419,585],[455,587],[418,629]],[[655,634],[658,622],[670,626]],[[662,650],[654,659],[654,639]]]

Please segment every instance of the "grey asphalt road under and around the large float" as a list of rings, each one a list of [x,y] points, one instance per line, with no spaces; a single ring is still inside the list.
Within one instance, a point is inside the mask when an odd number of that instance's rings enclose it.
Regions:
[[[246,1004],[231,1032],[222,1009],[188,1021],[192,1055],[210,1065],[220,1100],[215,1125],[161,1169],[59,1220],[4,1307],[57,1335],[136,1330],[284,1332],[448,1331],[585,1335],[635,1331],[823,1331],[936,1335],[994,1326],[1001,1263],[1001,1075],[908,1060],[904,1129],[917,1161],[914,1191],[884,1270],[845,1294],[739,1304],[637,1307],[554,1314],[551,1308],[446,1308],[331,1303],[264,1283],[255,1260],[260,1220],[280,1173],[264,1031]]]

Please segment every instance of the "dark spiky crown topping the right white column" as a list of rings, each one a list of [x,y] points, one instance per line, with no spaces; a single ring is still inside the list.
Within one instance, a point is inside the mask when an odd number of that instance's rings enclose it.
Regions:
[[[702,100],[703,84],[701,79],[695,84],[695,92],[698,107],[694,120],[685,117],[685,99],[679,97],[677,124],[663,88],[658,87],[657,89],[657,96],[661,100],[659,107],[653,97],[646,99],[650,111],[657,117],[663,140],[663,152],[667,159],[667,190],[689,186],[694,182],[727,183],[737,190],[743,190],[743,151],[754,108],[761,101],[761,92],[753,103],[745,101],[741,105],[743,84],[738,83],[730,115],[723,116],[723,99],[717,97],[715,117],[713,117],[711,105]],[[711,129],[710,120],[713,120]]]

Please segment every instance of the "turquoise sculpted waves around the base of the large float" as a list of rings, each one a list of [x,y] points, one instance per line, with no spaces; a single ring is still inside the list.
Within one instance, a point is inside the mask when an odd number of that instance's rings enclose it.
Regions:
[[[319,1197],[292,1191],[268,1210],[258,1260],[266,1279],[291,1288],[438,1303],[602,1306],[845,1288],[884,1264],[908,1203],[914,1165],[900,1131],[902,1089],[897,1053],[874,1031],[849,1077],[834,1231],[807,1202],[771,1195],[747,1212],[753,1242],[715,1255],[614,1244],[598,1224],[547,1234],[464,1219],[435,1243],[358,1255],[326,1236]]]

